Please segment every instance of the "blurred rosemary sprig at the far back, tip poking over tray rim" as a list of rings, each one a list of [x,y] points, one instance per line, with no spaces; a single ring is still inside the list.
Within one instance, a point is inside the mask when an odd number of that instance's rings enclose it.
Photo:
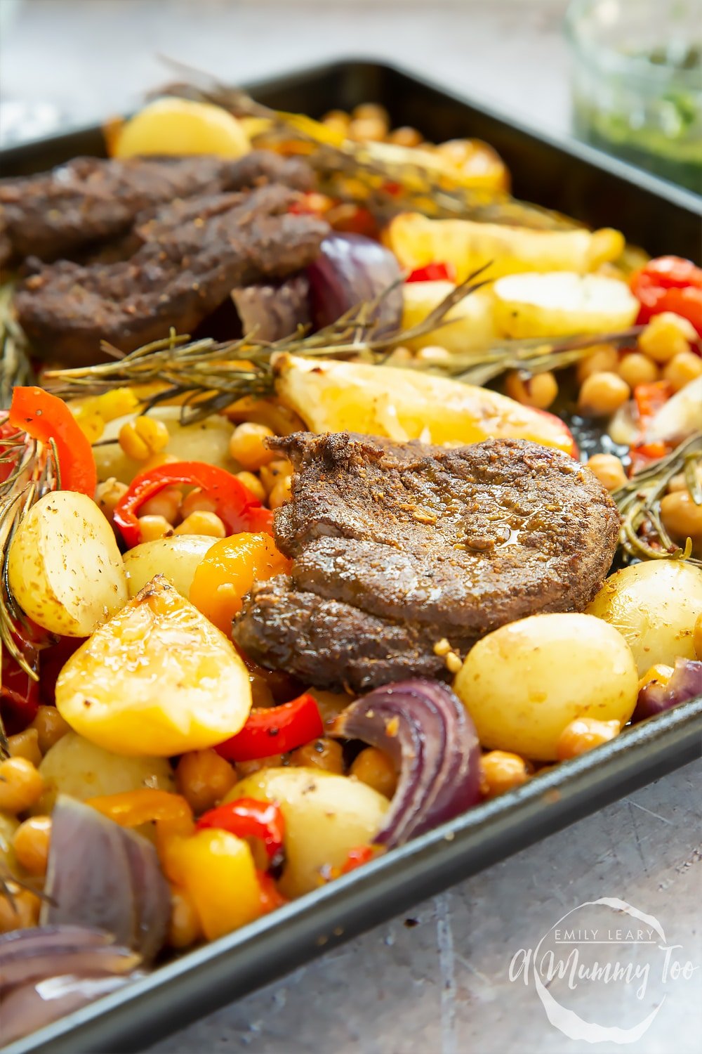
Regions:
[[[302,154],[315,169],[318,189],[342,201],[363,202],[378,217],[414,210],[434,218],[462,217],[493,223],[519,223],[541,230],[578,227],[573,219],[518,201],[505,191],[472,187],[439,162],[395,144],[345,139],[304,114],[270,110],[244,91],[221,84],[203,71],[164,59],[187,79],[161,93],[212,102],[237,117],[257,117],[266,130],[257,144]]]

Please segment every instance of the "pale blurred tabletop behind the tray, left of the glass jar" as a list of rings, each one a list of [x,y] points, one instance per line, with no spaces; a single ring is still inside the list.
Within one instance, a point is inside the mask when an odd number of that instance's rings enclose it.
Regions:
[[[139,102],[167,55],[242,82],[392,58],[531,123],[568,126],[566,0],[0,0],[0,135]]]

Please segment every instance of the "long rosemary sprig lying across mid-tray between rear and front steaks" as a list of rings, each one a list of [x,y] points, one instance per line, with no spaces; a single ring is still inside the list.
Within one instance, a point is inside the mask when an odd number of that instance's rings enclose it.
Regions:
[[[179,336],[172,332],[171,336],[123,356],[103,345],[103,351],[113,356],[112,362],[49,370],[44,374],[44,382],[49,391],[62,398],[101,395],[124,385],[158,384],[163,386],[162,390],[146,401],[146,408],[177,397],[184,399],[181,421],[193,424],[226,409],[244,395],[269,395],[274,391],[270,364],[278,352],[304,358],[355,357],[377,366],[395,365],[389,357],[394,348],[457,321],[448,317],[452,308],[487,284],[481,278],[486,270],[482,268],[474,272],[464,282],[456,286],[426,318],[406,330],[388,331],[383,323],[383,304],[396,291],[396,287],[389,287],[374,300],[352,308],[336,323],[317,333],[296,333],[269,344],[257,341],[255,333],[239,340],[218,343],[210,338],[192,341],[187,335]],[[534,374],[562,369],[587,354],[593,345],[623,343],[638,332],[639,328],[634,327],[619,333],[559,340],[504,340],[484,351],[452,355],[445,362],[416,359],[409,365],[424,372],[483,385],[506,370],[519,369]]]

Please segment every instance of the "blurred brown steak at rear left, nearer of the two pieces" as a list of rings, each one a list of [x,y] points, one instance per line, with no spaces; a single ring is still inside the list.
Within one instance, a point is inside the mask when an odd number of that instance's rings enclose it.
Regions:
[[[317,256],[327,226],[288,213],[296,192],[278,183],[163,207],[136,229],[128,260],[47,265],[16,294],[34,346],[71,365],[95,363],[104,339],[128,352],[193,333],[239,286],[285,276]]]

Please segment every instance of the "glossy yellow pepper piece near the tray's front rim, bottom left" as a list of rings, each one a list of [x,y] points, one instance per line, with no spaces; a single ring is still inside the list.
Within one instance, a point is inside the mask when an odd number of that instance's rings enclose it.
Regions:
[[[174,838],[163,862],[171,881],[182,886],[195,904],[207,940],[263,914],[252,851],[227,831],[199,831],[192,838]]]

